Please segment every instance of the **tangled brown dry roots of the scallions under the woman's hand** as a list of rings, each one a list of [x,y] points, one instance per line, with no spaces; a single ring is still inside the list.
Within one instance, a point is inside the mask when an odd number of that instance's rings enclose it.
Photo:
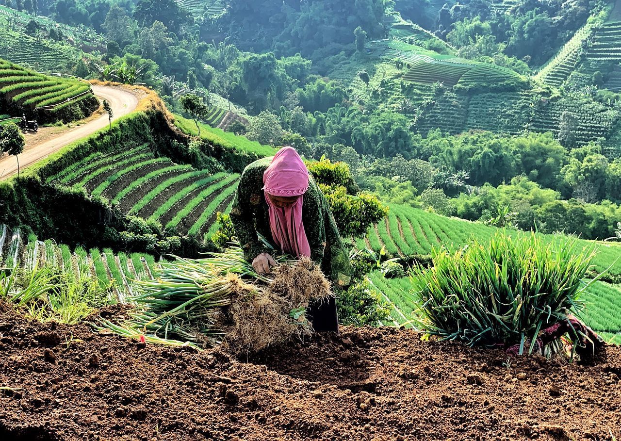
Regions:
[[[333,296],[330,283],[309,258],[275,269],[266,288],[235,283],[225,344],[234,352],[256,352],[294,337],[311,335],[305,309]]]

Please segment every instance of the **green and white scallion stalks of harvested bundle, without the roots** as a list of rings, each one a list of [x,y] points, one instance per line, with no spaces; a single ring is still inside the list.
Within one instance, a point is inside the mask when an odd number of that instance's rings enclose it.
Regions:
[[[134,280],[135,295],[127,298],[135,306],[129,319],[114,325],[100,320],[96,329],[169,345],[176,341],[214,347],[224,338],[219,329],[222,308],[231,304],[239,286],[252,291],[273,281],[256,273],[239,245],[207,258],[173,258],[161,263],[153,280]],[[288,261],[286,256],[276,258],[277,263]]]

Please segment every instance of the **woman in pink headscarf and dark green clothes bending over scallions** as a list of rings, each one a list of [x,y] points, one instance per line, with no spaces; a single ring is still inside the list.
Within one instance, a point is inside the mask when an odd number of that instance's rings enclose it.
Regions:
[[[351,262],[330,207],[294,148],[284,147],[245,168],[230,217],[257,273],[269,273],[276,264],[261,235],[281,253],[310,257],[335,285],[350,284]],[[311,305],[309,317],[315,330],[338,332],[333,298]]]

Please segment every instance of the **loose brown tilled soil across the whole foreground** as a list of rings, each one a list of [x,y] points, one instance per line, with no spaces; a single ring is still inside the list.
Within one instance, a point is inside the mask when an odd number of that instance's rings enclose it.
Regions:
[[[0,304],[0,440],[621,439],[621,350],[606,356],[516,360],[346,327],[239,360]]]

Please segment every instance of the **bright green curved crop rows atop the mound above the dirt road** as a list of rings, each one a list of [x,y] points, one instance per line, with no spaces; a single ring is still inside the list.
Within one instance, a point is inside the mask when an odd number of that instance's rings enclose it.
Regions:
[[[93,91],[88,83],[43,75],[0,60],[0,96],[16,107],[16,113],[21,109],[58,111],[79,101],[92,100]]]

